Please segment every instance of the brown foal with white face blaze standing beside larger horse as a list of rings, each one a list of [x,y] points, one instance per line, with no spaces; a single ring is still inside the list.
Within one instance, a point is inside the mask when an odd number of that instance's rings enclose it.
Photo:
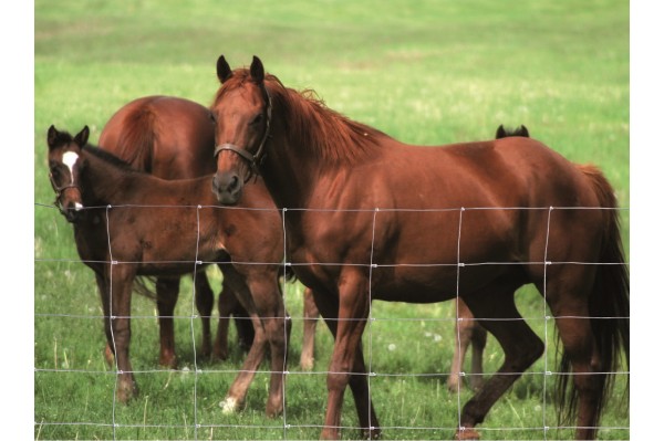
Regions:
[[[249,313],[255,338],[221,406],[235,410],[268,349],[271,379],[267,414],[283,409],[283,371],[290,321],[280,270],[283,233],[264,187],[253,186],[241,209],[216,206],[211,176],[164,180],[131,168],[108,151],[87,145],[87,126],[72,137],[48,130],[50,178],[56,203],[73,208],[79,255],[96,277],[106,342],[114,350],[116,396],[137,392],[129,361],[132,285],[139,275],[183,275],[218,263]],[[260,263],[256,263],[260,262]],[[287,326],[288,323],[288,326]]]

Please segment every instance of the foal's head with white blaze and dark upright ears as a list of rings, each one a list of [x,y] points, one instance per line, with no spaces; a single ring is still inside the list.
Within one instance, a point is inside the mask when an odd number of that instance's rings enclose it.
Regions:
[[[49,178],[55,191],[55,206],[70,222],[81,218],[83,198],[79,187],[79,176],[85,162],[81,158],[83,146],[87,144],[90,129],[85,126],[76,136],[49,127]]]

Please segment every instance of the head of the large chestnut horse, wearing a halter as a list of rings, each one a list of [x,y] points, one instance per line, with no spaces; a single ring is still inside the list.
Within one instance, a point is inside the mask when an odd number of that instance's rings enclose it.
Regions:
[[[210,107],[215,122],[217,172],[212,191],[220,203],[236,204],[242,187],[259,174],[270,133],[271,98],[258,56],[249,70],[231,71],[224,55],[217,61],[221,87]]]

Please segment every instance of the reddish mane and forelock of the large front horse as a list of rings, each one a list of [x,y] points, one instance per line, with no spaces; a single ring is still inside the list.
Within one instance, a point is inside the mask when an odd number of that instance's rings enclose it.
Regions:
[[[217,91],[215,102],[248,81],[252,81],[249,70],[234,71],[232,76]],[[298,92],[286,87],[271,74],[266,74],[264,83],[273,107],[286,113],[288,136],[295,140],[298,146],[321,158],[321,164],[330,167],[357,164],[378,147],[378,138],[387,137],[374,127],[329,108],[313,90]]]

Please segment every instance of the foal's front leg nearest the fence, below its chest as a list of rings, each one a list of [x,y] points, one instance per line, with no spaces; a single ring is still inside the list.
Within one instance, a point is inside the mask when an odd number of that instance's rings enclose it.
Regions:
[[[110,316],[106,317],[106,333],[111,336],[117,365],[116,396],[121,402],[127,402],[138,389],[129,361],[129,340],[132,337],[132,283],[135,270],[131,264],[112,265]]]

